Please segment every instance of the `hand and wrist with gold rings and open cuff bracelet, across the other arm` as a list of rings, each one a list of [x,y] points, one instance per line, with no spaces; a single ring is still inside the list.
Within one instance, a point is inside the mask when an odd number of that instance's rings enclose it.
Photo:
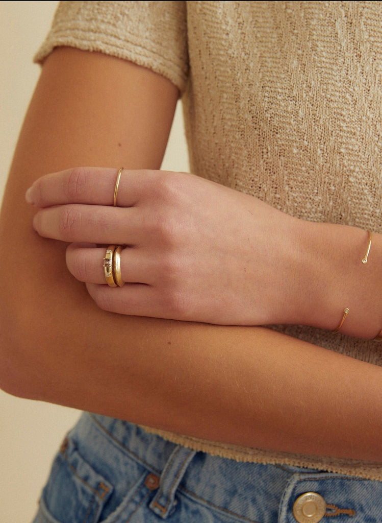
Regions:
[[[226,325],[305,324],[372,338],[380,331],[381,237],[310,223],[186,173],[76,168],[38,179],[27,200],[44,237],[104,310]],[[123,287],[103,258],[121,245]]]

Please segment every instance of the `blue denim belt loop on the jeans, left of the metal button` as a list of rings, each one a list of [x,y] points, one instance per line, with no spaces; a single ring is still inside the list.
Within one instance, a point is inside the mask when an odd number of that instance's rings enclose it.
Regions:
[[[194,450],[178,445],[169,457],[160,476],[159,488],[149,507],[163,519],[176,505],[175,494],[187,467],[195,456]]]

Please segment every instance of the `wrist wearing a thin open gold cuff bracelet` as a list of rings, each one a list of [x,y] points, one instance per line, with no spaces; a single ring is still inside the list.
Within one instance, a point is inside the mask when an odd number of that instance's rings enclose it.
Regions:
[[[361,338],[382,328],[382,237],[351,226],[299,221],[292,313],[306,324]],[[367,263],[363,259],[369,250]],[[334,335],[334,334],[333,334]]]

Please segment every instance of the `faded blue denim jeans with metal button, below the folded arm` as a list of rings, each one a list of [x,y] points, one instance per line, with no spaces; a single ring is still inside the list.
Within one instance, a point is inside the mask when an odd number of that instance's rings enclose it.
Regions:
[[[317,520],[317,496],[323,522],[382,522],[382,482],[238,463],[85,413],[57,453],[33,523],[296,523],[303,494],[297,521]]]

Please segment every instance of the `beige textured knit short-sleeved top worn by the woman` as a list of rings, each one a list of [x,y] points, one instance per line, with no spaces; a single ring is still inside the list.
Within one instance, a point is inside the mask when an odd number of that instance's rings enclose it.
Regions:
[[[382,232],[381,20],[380,2],[63,2],[36,61],[72,46],[148,67],[180,89],[193,173],[304,220]],[[279,329],[382,365],[376,342]],[[382,480],[376,463],[155,432],[240,461]]]

